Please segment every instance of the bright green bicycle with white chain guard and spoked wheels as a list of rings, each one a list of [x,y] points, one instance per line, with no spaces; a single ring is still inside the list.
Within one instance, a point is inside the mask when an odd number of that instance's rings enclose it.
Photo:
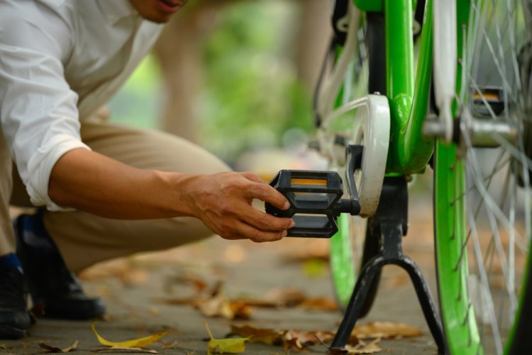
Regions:
[[[313,228],[332,234],[338,217],[331,270],[345,310],[357,272],[382,248],[376,220],[390,213],[379,207],[383,184],[430,165],[440,352],[532,354],[531,7],[517,0],[335,3],[332,60],[316,89],[318,148],[331,170],[347,171],[344,190],[360,202],[360,216],[330,205]],[[354,169],[345,157],[350,146],[363,148]],[[360,316],[378,279],[371,278]]]

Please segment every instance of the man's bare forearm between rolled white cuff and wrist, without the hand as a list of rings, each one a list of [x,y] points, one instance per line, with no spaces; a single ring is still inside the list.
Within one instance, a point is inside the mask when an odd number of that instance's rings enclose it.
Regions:
[[[57,204],[119,219],[193,215],[183,192],[194,175],[142,170],[94,151],[74,149],[57,160],[48,195]]]

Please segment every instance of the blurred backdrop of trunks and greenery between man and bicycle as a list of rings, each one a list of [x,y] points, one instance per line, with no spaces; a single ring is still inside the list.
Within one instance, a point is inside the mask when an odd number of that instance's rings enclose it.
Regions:
[[[164,129],[233,165],[314,134],[311,96],[329,0],[191,0],[110,103],[111,121]]]

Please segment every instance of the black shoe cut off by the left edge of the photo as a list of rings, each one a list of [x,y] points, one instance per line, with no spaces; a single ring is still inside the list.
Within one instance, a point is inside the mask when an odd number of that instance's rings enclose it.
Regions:
[[[28,292],[18,268],[0,266],[0,339],[18,339],[31,325]]]

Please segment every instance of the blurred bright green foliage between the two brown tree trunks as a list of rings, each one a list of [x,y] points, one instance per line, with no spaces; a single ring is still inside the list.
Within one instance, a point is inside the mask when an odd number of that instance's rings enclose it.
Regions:
[[[291,127],[311,129],[309,95],[292,61],[294,6],[271,0],[228,6],[206,40],[200,136],[221,158],[279,146]]]

